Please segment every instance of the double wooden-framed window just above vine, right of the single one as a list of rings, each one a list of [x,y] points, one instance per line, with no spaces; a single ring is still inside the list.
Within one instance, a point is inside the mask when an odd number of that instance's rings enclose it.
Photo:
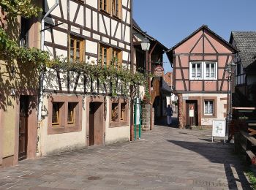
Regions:
[[[122,63],[121,50],[100,45],[99,47],[99,64],[102,66],[108,66],[110,64],[116,67],[121,66]]]

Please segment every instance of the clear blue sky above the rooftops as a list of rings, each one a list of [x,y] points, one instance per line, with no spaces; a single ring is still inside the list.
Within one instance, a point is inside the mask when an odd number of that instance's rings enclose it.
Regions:
[[[256,31],[256,0],[133,0],[133,18],[168,49],[203,24],[229,42],[231,31]]]

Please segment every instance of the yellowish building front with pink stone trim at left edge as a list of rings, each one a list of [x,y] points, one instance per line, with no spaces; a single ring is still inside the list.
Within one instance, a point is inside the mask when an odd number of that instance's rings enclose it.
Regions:
[[[39,47],[39,26],[37,18],[12,18],[0,7],[0,28],[20,47]],[[0,167],[34,159],[37,152],[39,74],[30,64],[4,60],[0,58]]]

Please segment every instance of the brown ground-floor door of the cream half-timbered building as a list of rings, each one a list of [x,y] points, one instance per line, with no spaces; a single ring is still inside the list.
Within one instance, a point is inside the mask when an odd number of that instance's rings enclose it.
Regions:
[[[103,109],[101,102],[90,103],[89,146],[103,144]]]

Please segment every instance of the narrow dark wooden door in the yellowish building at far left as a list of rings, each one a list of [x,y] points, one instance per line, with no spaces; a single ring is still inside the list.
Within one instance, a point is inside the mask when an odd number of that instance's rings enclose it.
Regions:
[[[18,159],[26,159],[28,145],[29,96],[20,96]]]

